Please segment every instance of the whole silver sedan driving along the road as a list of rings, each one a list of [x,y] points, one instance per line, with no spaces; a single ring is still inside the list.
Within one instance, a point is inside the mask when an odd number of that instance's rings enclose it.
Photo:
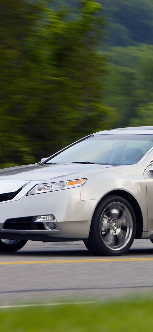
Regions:
[[[95,255],[153,242],[153,127],[91,134],[38,164],[0,170],[0,251],[83,240]]]

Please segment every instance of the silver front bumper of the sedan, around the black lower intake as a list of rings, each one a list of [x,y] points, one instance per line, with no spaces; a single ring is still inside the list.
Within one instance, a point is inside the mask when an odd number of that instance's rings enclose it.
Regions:
[[[81,201],[81,188],[65,189],[51,193],[23,196],[0,203],[0,238],[31,239],[39,241],[64,241],[86,239],[97,200]],[[58,230],[3,229],[10,218],[53,214]]]

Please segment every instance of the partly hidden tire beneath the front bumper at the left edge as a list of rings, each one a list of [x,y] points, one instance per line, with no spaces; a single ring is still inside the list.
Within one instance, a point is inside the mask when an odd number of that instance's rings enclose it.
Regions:
[[[14,252],[24,247],[28,240],[0,239],[0,252]]]

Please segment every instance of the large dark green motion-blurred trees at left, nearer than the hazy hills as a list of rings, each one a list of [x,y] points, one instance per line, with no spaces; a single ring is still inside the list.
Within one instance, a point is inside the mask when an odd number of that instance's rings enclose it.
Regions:
[[[1,166],[39,160],[113,123],[102,102],[103,10],[79,3],[72,18],[52,1],[1,0]]]

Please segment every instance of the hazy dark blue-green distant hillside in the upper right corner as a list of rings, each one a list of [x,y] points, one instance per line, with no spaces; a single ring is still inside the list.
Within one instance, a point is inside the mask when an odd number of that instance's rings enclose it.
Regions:
[[[79,0],[57,0],[66,6],[79,8]],[[152,0],[99,0],[107,14],[107,45],[152,44]]]

